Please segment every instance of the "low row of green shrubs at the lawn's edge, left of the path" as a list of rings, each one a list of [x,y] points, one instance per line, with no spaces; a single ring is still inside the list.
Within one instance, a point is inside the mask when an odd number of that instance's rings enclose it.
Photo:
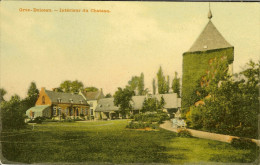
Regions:
[[[142,121],[142,122],[157,122],[158,124],[162,124],[165,120],[168,120],[169,116],[165,112],[159,113],[140,113],[134,115],[134,121]]]

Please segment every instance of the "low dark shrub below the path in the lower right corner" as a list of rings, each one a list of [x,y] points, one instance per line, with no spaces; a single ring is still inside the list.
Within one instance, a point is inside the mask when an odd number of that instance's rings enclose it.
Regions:
[[[256,143],[254,143],[251,139],[247,138],[233,138],[231,141],[231,145],[239,149],[257,148]]]

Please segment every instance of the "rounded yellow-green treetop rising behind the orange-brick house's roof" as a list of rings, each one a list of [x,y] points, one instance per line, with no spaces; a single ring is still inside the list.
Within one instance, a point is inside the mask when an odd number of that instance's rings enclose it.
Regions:
[[[66,80],[60,84],[60,89],[62,89],[63,92],[69,93],[79,93],[80,90],[84,88],[84,85],[82,82],[75,80],[75,81],[70,81]]]

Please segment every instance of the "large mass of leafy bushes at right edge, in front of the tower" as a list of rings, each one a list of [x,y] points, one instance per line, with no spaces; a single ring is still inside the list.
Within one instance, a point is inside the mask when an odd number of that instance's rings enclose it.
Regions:
[[[201,98],[203,106],[192,106],[187,114],[190,127],[212,132],[257,138],[259,113],[259,66],[250,61],[240,80],[228,78],[226,71],[218,71],[203,86],[208,98]],[[218,65],[218,67],[221,67]],[[223,66],[224,67],[224,66]],[[200,90],[202,91],[202,90]],[[203,97],[201,94],[199,97]]]

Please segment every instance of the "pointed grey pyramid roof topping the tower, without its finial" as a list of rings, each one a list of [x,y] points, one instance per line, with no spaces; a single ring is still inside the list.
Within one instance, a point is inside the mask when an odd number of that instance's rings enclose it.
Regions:
[[[208,24],[188,52],[207,51],[228,47],[233,46],[225,40],[215,25],[211,22],[211,20],[209,20]]]

